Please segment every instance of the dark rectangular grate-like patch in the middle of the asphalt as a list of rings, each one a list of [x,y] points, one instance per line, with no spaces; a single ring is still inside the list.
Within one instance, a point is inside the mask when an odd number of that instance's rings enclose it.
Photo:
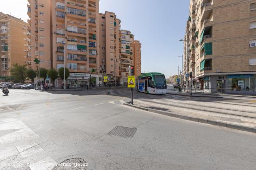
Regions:
[[[123,127],[123,126],[116,126],[112,131],[110,131],[109,135],[115,135],[120,136],[123,138],[132,138],[135,132],[137,131],[137,128],[129,128],[129,127]]]

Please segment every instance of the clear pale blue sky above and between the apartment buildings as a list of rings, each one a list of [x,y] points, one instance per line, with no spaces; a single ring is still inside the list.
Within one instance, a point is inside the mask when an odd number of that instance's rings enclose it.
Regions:
[[[27,22],[27,0],[1,0],[0,11]],[[140,40],[141,71],[162,72],[166,77],[182,66],[189,0],[100,0],[100,12],[116,13],[121,28]]]

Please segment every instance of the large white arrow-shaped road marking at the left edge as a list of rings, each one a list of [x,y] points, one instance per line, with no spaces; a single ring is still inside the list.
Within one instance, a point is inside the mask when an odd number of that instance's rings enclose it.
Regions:
[[[21,120],[0,124],[0,130],[9,130],[9,129],[20,129],[20,130],[1,136],[0,143],[1,142],[8,143],[9,141],[15,141],[15,140],[29,140],[29,139],[39,138],[39,136],[35,132],[33,132],[30,128],[28,128]]]

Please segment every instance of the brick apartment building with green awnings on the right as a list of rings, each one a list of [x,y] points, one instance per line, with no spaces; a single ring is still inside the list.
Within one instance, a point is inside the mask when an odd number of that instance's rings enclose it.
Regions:
[[[184,70],[193,72],[193,85],[214,92],[253,93],[256,0],[190,0],[189,14]]]

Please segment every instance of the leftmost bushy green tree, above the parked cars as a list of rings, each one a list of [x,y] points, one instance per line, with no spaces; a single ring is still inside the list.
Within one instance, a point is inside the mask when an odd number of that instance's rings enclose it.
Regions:
[[[13,67],[11,68],[11,76],[13,77],[13,82],[19,82],[23,83],[26,78],[26,65],[19,65],[19,64],[14,64]]]

